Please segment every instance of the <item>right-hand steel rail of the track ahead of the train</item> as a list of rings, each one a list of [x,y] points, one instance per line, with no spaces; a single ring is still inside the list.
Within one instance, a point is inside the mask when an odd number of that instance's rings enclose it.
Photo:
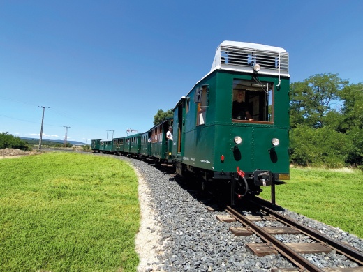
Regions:
[[[359,252],[359,251],[355,250],[354,248],[351,248],[348,245],[344,245],[343,243],[335,241],[334,239],[332,239],[324,234],[321,234],[320,232],[317,232],[315,229],[306,227],[306,226],[300,224],[299,222],[288,218],[287,216],[283,216],[282,214],[277,213],[276,211],[274,211],[272,209],[269,209],[267,206],[263,206],[258,203],[255,203],[255,204],[260,206],[260,208],[263,211],[269,213],[270,215],[274,216],[275,218],[278,218],[284,224],[286,224],[290,227],[295,227],[296,229],[299,230],[299,232],[306,234],[306,236],[309,236],[320,243],[326,243],[331,248],[334,248],[334,250],[336,250],[336,252],[339,252],[342,255],[346,256],[348,259],[357,263],[359,266],[363,266],[363,253],[362,252]]]

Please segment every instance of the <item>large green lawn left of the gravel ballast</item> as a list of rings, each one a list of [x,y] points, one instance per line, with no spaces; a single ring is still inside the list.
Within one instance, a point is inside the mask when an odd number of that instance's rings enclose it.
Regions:
[[[138,179],[121,160],[0,160],[0,271],[135,271]]]

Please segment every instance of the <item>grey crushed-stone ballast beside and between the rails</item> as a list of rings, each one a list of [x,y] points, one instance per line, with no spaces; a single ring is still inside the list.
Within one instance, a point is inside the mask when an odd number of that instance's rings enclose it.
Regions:
[[[126,160],[142,176],[147,187],[149,208],[154,211],[149,216],[152,224],[145,226],[148,236],[157,236],[153,246],[156,256],[147,256],[151,261],[142,262],[138,271],[269,271],[272,267],[292,268],[292,264],[281,255],[256,257],[246,249],[246,243],[262,243],[252,236],[234,236],[229,228],[232,224],[216,220],[221,211],[207,211],[206,206],[193,195],[193,191],[182,188],[172,176],[142,160],[114,156]],[[143,209],[143,208],[142,208]],[[323,234],[353,245],[363,251],[363,241],[357,236],[343,232],[290,211],[281,212],[295,218],[304,225],[318,229]],[[150,221],[149,221],[150,222]],[[258,222],[262,226],[280,224],[274,221]],[[239,225],[240,226],[240,225]],[[285,243],[311,243],[311,239],[299,235],[276,235]],[[152,239],[149,239],[152,241]],[[348,268],[357,264],[345,257],[329,254],[305,255],[320,268]],[[140,256],[140,259],[143,259]]]

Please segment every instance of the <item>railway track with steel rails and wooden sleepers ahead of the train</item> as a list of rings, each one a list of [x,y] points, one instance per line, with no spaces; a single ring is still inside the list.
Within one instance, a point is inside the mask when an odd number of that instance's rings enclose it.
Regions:
[[[296,220],[281,215],[267,206],[263,206],[257,202],[251,202],[253,206],[258,207],[260,216],[244,216],[236,209],[225,206],[225,211],[228,216],[217,216],[218,220],[225,222],[233,222],[237,220],[243,227],[230,227],[230,231],[235,236],[249,236],[255,234],[260,237],[264,243],[249,243],[248,248],[255,255],[262,257],[265,255],[280,254],[290,260],[296,269],[276,268],[272,271],[363,271],[363,253],[355,250],[350,245],[334,241],[334,239],[321,234],[315,229],[306,227]],[[286,227],[259,227],[255,224],[256,221],[276,220],[281,222],[281,225]],[[283,243],[276,239],[276,234],[304,234],[315,243]],[[306,259],[304,254],[319,254],[329,253],[335,250],[336,253],[346,256],[351,262],[357,264],[354,268],[339,268],[339,269],[321,269],[309,259]]]

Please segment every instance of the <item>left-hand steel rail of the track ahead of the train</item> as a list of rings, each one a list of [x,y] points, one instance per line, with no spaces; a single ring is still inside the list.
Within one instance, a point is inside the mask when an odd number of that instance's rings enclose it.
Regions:
[[[241,222],[246,227],[250,227],[255,234],[260,236],[264,241],[267,243],[272,243],[273,247],[284,257],[290,260],[295,266],[299,267],[299,269],[307,269],[308,271],[313,272],[323,272],[318,266],[309,262],[309,260],[305,259],[301,255],[299,255],[295,250],[292,250],[287,245],[282,243],[281,241],[277,240],[271,234],[265,232],[261,227],[255,225],[251,220],[247,219],[245,216],[242,216],[241,213],[232,209],[230,206],[226,206],[225,211],[235,216],[235,218]]]

